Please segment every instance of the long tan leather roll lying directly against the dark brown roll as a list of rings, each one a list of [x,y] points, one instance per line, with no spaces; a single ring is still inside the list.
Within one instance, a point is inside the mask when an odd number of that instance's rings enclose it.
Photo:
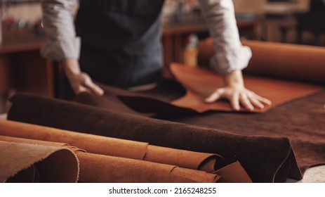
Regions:
[[[147,160],[206,172],[215,172],[227,164],[223,157],[211,153],[152,146],[145,142],[81,134],[9,120],[0,120],[0,128],[0,135],[4,136],[41,140],[45,144],[49,144],[49,141],[60,142],[77,146],[89,153]]]

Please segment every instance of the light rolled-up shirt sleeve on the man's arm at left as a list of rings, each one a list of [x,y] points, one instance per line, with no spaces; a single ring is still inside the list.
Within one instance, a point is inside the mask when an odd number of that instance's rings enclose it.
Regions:
[[[46,44],[41,55],[53,61],[78,59],[80,38],[76,37],[73,8],[76,0],[42,0]]]

